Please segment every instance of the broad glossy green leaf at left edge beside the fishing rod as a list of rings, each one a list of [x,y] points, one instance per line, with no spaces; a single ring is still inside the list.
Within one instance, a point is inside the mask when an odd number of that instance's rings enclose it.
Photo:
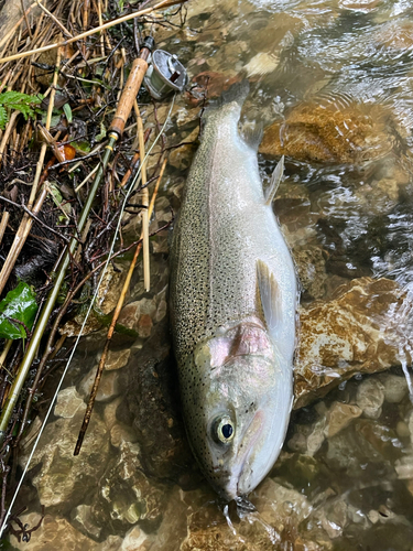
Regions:
[[[37,312],[35,294],[32,289],[21,281],[15,289],[9,291],[6,299],[0,302],[0,337],[1,338],[25,338],[28,335],[23,325],[9,321],[19,320],[24,323],[29,331],[33,327]]]

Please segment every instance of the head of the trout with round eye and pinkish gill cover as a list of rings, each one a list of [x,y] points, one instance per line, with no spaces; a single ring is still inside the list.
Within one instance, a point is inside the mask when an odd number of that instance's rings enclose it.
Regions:
[[[199,344],[192,361],[191,403],[184,399],[192,449],[222,498],[243,497],[264,478],[283,444],[292,366],[283,365],[262,324],[250,322]]]

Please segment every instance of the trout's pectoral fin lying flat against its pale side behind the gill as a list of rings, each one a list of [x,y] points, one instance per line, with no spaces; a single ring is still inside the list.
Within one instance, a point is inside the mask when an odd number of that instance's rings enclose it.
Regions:
[[[262,260],[257,261],[258,288],[265,324],[272,337],[281,326],[282,305],[280,285],[269,267]]]

